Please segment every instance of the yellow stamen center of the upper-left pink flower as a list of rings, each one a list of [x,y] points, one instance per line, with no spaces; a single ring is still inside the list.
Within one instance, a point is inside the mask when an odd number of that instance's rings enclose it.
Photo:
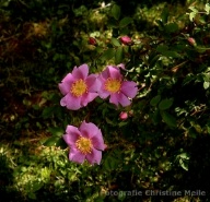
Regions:
[[[88,92],[88,86],[84,82],[84,80],[78,80],[75,81],[72,86],[70,92],[75,96],[75,97],[80,97],[81,95],[83,95],[84,93]]]

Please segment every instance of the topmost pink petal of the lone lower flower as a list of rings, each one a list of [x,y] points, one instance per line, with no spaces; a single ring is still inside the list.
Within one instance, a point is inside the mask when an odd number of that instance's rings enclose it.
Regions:
[[[79,130],[83,136],[89,139],[97,135],[100,131],[100,129],[95,124],[93,124],[92,122],[85,122],[85,121],[82,122]]]

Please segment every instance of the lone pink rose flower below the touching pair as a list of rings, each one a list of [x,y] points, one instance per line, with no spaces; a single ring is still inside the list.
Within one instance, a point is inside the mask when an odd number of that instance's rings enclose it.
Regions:
[[[92,165],[100,165],[105,144],[101,130],[94,123],[83,121],[80,128],[67,126],[63,140],[70,147],[70,161],[82,164],[86,159]]]

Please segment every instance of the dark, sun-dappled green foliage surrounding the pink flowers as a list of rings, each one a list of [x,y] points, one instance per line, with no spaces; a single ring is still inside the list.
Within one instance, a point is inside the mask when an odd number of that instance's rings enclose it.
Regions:
[[[127,3],[136,7],[130,15],[117,1],[1,2],[0,191],[8,201],[139,201],[126,191],[208,191],[209,3]],[[121,43],[125,35],[130,45]],[[121,73],[139,88],[132,104],[96,98],[79,111],[61,107],[58,83],[82,63],[91,73],[125,63]],[[82,120],[102,130],[107,148],[100,166],[68,159],[62,134]],[[120,194],[108,195],[113,190]]]

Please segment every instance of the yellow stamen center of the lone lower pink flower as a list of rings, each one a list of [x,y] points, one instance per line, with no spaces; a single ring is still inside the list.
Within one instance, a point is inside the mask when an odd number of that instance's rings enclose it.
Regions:
[[[90,139],[80,136],[75,141],[75,146],[82,153],[82,154],[89,154],[92,152],[92,142]]]

